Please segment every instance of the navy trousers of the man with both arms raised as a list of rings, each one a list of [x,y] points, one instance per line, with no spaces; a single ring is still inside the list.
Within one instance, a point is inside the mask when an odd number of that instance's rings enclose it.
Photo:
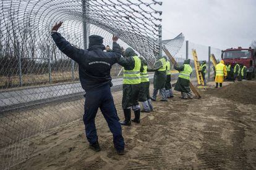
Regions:
[[[85,94],[85,113],[83,123],[85,124],[85,134],[90,144],[98,142],[95,127],[95,116],[100,108],[108,127],[113,134],[113,142],[116,150],[124,150],[124,138],[122,128],[114,106],[113,96],[109,85],[100,87]]]

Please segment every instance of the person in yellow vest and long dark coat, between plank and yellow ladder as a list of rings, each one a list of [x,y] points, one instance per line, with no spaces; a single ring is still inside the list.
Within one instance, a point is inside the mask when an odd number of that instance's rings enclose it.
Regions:
[[[193,99],[189,83],[192,68],[190,66],[190,59],[185,60],[181,66],[174,65],[174,68],[179,71],[179,78],[174,87],[174,90],[181,92],[181,99]]]

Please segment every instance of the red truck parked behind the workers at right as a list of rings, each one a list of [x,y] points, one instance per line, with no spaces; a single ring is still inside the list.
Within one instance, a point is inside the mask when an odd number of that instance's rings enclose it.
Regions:
[[[251,47],[244,49],[242,47],[226,49],[221,51],[221,59],[225,63],[231,64],[231,73],[233,73],[234,63],[243,63],[247,67],[247,79],[255,77],[256,73],[256,49]]]

